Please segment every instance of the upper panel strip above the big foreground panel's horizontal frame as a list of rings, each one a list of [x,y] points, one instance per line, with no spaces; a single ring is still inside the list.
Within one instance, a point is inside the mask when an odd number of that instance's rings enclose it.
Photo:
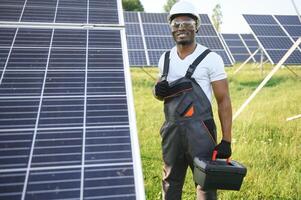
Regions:
[[[115,3],[114,3],[115,2]],[[118,24],[116,1],[26,1],[0,2],[0,21],[39,23]],[[23,8],[24,7],[24,8]],[[88,9],[88,8],[89,9]]]

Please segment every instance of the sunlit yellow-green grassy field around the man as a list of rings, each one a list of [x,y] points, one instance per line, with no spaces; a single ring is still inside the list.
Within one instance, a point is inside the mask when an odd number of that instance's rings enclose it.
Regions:
[[[233,113],[270,71],[263,75],[255,65],[227,68]],[[156,77],[156,68],[145,69]],[[301,68],[293,68],[301,77]],[[152,96],[154,80],[139,68],[131,69],[137,128],[148,200],[161,199],[162,157],[159,129],[163,122],[163,105]],[[213,102],[216,114],[216,105]],[[219,199],[261,200],[301,199],[301,119],[286,121],[301,114],[301,79],[280,69],[233,123],[233,160],[248,168],[239,192],[219,191]],[[215,115],[217,116],[217,115]],[[218,124],[218,119],[216,118]],[[218,133],[221,136],[220,131]],[[195,199],[189,171],[183,200]]]

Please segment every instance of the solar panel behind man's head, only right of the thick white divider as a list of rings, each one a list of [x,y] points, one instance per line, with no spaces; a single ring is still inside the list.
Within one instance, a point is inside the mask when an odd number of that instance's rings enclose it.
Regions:
[[[140,13],[150,65],[156,66],[162,52],[175,46],[167,23],[168,13]],[[232,61],[207,15],[201,14],[201,27],[196,40],[218,53],[226,65]]]

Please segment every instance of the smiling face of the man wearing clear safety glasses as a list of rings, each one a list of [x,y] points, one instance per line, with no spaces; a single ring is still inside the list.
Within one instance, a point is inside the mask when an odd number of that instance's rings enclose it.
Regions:
[[[195,40],[196,23],[188,16],[178,16],[171,23],[171,32],[178,45],[190,45]]]

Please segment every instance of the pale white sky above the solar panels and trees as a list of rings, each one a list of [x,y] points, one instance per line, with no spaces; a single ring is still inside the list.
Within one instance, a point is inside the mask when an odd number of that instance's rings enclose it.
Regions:
[[[167,0],[140,0],[145,12],[164,12]],[[251,33],[242,14],[297,15],[292,0],[187,0],[202,14],[212,15],[216,4],[221,5],[223,14],[222,33]],[[301,13],[301,0],[293,0]]]

